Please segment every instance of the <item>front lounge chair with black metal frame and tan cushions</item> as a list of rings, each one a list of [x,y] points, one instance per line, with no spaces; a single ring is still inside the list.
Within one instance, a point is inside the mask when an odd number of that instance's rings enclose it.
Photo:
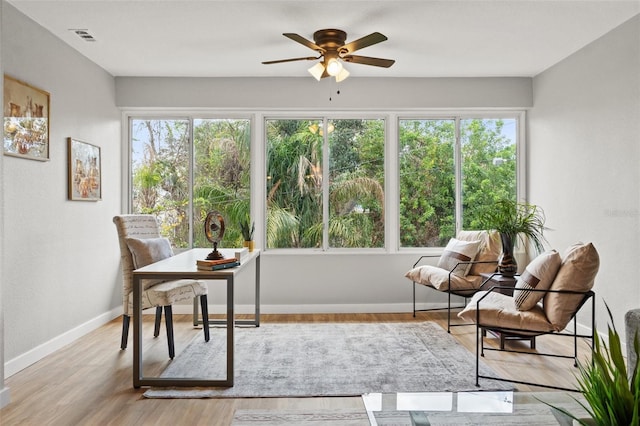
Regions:
[[[559,255],[558,255],[559,256]],[[544,279],[528,274],[529,266],[516,284],[514,296],[499,293],[499,286],[488,291],[476,293],[469,304],[458,316],[476,325],[476,386],[479,379],[492,379],[524,385],[539,386],[551,389],[575,391],[576,389],[559,387],[544,383],[526,382],[512,378],[501,378],[481,375],[479,371],[480,357],[485,351],[506,351],[523,355],[538,355],[574,360],[578,365],[578,338],[583,338],[593,347],[595,333],[595,294],[591,290],[599,269],[599,256],[591,243],[575,244],[565,252],[562,263],[556,268],[549,287],[528,286],[528,283],[541,283]],[[518,298],[530,298],[527,306],[519,304]],[[540,302],[538,302],[540,300]],[[579,334],[576,315],[591,300],[590,334]],[[519,304],[519,305],[517,305]],[[529,306],[533,305],[529,308]],[[518,309],[526,307],[528,309]],[[567,326],[573,321],[573,330]],[[485,345],[486,332],[506,335],[515,340],[530,339],[541,335],[554,335],[573,338],[573,353],[525,351],[517,348],[494,348]],[[590,342],[589,342],[590,340]]]

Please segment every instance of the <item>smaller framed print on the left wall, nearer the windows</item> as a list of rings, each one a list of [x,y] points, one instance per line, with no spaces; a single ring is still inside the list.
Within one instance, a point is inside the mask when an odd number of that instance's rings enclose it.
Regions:
[[[69,199],[98,201],[102,199],[100,147],[68,138]]]

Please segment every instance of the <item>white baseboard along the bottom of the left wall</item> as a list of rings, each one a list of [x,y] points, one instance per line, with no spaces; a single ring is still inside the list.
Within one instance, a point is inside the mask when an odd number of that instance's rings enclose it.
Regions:
[[[54,337],[53,339],[44,342],[41,345],[36,346],[28,352],[19,355],[4,364],[4,378],[5,380],[8,377],[13,376],[18,371],[27,368],[28,366],[40,361],[47,355],[52,354],[58,349],[68,345],[79,337],[84,336],[87,333],[103,326],[108,323],[112,319],[116,318],[118,315],[122,315],[122,307],[113,309],[109,312],[105,312],[84,324],[80,324],[79,326]]]

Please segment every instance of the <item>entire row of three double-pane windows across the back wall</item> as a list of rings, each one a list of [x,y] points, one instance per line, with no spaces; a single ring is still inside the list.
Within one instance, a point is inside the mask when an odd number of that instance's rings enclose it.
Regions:
[[[345,115],[131,118],[131,211],[156,215],[177,248],[209,246],[202,223],[219,211],[222,247],[242,245],[250,218],[266,250],[395,250],[443,247],[523,196],[520,115]]]

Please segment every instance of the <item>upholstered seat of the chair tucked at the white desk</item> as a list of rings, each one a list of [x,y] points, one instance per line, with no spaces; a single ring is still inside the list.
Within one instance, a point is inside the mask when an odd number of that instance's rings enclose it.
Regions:
[[[165,281],[149,287],[142,293],[142,309],[167,306],[207,294],[206,284],[197,280]],[[129,312],[133,312],[133,293],[129,294]]]

